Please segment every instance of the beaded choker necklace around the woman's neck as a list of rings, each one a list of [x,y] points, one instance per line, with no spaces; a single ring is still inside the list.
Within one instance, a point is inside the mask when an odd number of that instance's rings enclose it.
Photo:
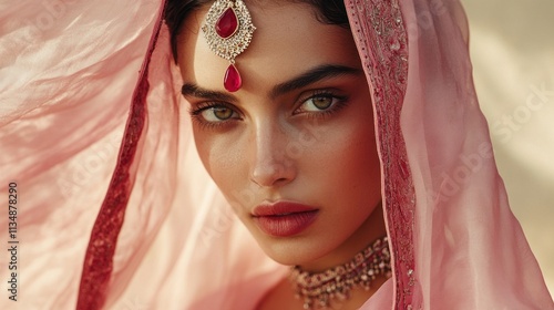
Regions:
[[[390,278],[390,252],[387,236],[357,254],[345,265],[310,273],[299,266],[293,267],[291,281],[296,297],[304,299],[304,309],[326,309],[335,301],[345,301],[356,287],[370,289],[380,275]]]

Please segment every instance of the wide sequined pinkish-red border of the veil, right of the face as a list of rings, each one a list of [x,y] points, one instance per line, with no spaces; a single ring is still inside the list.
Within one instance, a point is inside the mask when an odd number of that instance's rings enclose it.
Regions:
[[[383,208],[390,225],[394,309],[412,303],[416,286],[413,226],[416,196],[400,113],[408,80],[408,38],[398,0],[347,1],[352,33],[361,55],[378,123],[384,179]]]

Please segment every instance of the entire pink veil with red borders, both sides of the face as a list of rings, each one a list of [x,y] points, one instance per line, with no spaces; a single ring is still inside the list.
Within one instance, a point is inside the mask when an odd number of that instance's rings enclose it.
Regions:
[[[1,309],[254,309],[287,272],[201,165],[162,2],[0,2],[0,195],[20,193],[20,290]],[[459,2],[346,4],[394,268],[362,309],[554,309],[495,168]]]

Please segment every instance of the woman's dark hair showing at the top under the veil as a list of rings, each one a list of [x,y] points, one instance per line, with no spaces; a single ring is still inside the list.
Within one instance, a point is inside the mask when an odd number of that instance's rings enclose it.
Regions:
[[[285,1],[285,0],[283,0]],[[287,0],[289,2],[304,2],[317,9],[316,18],[328,24],[349,28],[348,14],[343,0]],[[183,21],[188,14],[213,0],[168,0],[165,9],[165,23],[171,33],[171,44],[174,59],[177,58],[177,35]]]

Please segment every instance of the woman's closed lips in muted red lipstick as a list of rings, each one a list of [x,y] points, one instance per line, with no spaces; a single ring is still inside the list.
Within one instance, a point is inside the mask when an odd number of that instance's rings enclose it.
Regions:
[[[278,202],[254,208],[253,217],[261,231],[274,237],[290,237],[308,228],[317,218],[312,206]]]

